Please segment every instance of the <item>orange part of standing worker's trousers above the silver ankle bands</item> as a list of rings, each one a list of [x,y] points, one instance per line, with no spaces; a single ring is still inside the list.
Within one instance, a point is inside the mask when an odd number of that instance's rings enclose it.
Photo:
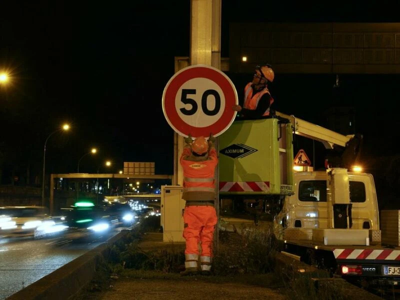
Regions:
[[[201,242],[201,255],[212,256],[212,241],[217,222],[214,206],[186,206],[183,221],[183,238],[186,241],[184,253],[199,254],[198,243]]]

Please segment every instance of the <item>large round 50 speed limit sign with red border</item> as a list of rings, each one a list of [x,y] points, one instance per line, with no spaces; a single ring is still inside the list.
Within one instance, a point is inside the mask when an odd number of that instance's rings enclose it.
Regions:
[[[183,136],[222,134],[233,122],[237,92],[228,76],[209,65],[190,65],[176,72],[162,93],[168,124]]]

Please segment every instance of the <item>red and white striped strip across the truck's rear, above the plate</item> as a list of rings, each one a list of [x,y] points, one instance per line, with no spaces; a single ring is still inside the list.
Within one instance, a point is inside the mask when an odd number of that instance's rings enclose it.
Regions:
[[[400,260],[400,250],[390,249],[333,249],[336,259]]]

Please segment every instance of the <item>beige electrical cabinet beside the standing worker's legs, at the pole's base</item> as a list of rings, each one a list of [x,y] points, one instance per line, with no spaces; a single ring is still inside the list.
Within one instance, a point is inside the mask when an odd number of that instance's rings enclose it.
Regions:
[[[182,186],[161,186],[161,227],[163,241],[185,241],[183,234]]]

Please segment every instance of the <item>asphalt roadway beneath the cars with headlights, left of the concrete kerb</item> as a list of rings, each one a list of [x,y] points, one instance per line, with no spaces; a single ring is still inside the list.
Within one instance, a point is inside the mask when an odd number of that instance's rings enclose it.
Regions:
[[[117,231],[115,231],[117,233]],[[59,239],[0,238],[0,300],[96,247],[104,239],[59,243]]]

